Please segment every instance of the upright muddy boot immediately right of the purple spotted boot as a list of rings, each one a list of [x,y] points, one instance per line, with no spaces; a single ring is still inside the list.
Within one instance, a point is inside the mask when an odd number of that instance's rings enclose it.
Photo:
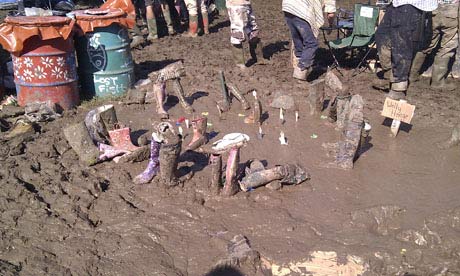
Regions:
[[[180,184],[177,177],[177,165],[182,148],[182,138],[175,134],[172,126],[164,130],[163,137],[163,144],[160,148],[160,176],[166,186],[173,187]]]

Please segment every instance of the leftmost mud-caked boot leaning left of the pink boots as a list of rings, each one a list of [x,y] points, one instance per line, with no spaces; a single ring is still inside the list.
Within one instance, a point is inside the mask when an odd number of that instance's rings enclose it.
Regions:
[[[77,153],[80,161],[91,166],[98,162],[99,150],[94,145],[93,139],[89,136],[85,123],[81,122],[64,129],[64,136]]]

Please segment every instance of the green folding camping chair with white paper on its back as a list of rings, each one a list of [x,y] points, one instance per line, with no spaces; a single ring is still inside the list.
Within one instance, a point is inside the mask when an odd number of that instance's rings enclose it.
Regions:
[[[361,65],[366,62],[366,58],[369,55],[372,46],[375,43],[375,29],[377,27],[379,17],[379,8],[377,6],[364,5],[364,4],[355,4],[355,11],[353,16],[353,31],[350,36],[344,38],[338,38],[336,40],[327,41],[327,46],[334,58],[333,67],[337,70],[341,67],[340,63],[336,57],[336,51],[351,50],[353,55],[353,50],[365,50],[361,61],[358,66],[354,69],[353,76],[360,73],[356,73]],[[323,29],[324,34],[325,29]],[[366,62],[366,66],[369,67],[369,64]]]

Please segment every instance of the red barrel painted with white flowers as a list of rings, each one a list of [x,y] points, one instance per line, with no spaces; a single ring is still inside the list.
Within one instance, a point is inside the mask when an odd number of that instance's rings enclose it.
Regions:
[[[51,16],[47,20],[66,24],[68,19]],[[33,25],[34,17],[12,18],[23,25]],[[20,106],[51,101],[58,109],[76,106],[80,97],[73,39],[62,37],[43,40],[39,35],[24,41],[19,54],[12,54],[14,82]]]

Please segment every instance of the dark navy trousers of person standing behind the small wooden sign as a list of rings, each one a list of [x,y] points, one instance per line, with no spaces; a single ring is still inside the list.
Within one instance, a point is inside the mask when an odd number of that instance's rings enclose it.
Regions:
[[[389,5],[375,33],[379,55],[391,49],[394,82],[407,81],[417,45],[423,39],[423,12],[412,5]],[[384,51],[383,51],[384,52]]]

